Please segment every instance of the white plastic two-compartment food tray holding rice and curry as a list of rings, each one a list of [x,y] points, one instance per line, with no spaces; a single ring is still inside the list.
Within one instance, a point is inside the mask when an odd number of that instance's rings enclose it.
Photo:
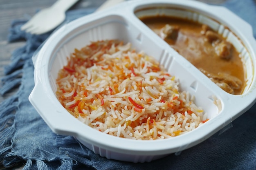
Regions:
[[[227,37],[242,54],[245,64],[247,86],[243,94],[223,91],[138,19],[161,13],[208,24]],[[137,51],[145,51],[164,64],[169,73],[178,77],[181,90],[195,96],[196,105],[204,109],[209,121],[177,137],[141,141],[104,134],[73,117],[55,96],[58,71],[67,64],[67,57],[75,48],[106,39],[131,42]],[[256,99],[256,41],[252,27],[223,7],[192,0],[128,1],[79,18],[54,32],[33,60],[35,87],[29,101],[47,125],[57,134],[74,136],[96,154],[109,159],[149,162],[195,146],[243,114]],[[218,98],[218,106],[213,96]]]

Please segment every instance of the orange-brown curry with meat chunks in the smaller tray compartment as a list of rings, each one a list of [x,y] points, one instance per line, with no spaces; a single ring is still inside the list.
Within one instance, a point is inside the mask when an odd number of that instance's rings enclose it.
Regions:
[[[243,93],[246,80],[240,53],[209,26],[168,16],[140,20],[224,91]]]

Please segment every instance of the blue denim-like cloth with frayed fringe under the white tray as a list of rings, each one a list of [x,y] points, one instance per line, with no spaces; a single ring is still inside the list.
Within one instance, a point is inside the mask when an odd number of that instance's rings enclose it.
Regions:
[[[253,0],[228,0],[223,6],[249,22],[256,37],[256,4]],[[67,12],[67,20],[94,9]],[[0,94],[19,85],[18,92],[0,104],[0,161],[10,167],[25,161],[24,170],[254,170],[256,169],[256,105],[229,126],[202,143],[150,163],[109,160],[94,154],[73,137],[54,134],[31,106],[28,96],[34,87],[31,57],[49,36],[20,31],[25,21],[16,20],[9,41],[25,39],[5,67]]]

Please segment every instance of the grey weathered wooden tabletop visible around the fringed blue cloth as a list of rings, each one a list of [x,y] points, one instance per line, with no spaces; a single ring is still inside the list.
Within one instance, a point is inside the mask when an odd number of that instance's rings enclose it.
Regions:
[[[81,9],[85,7],[99,7],[105,0],[80,0],[72,9]],[[200,0],[211,4],[219,4],[225,0]],[[4,76],[4,66],[8,65],[11,60],[13,50],[25,44],[24,41],[11,42],[7,41],[9,27],[14,19],[29,19],[38,9],[51,6],[56,0],[0,0],[0,79]],[[0,87],[2,84],[0,83]],[[16,93],[12,90],[4,96],[0,95],[0,102]],[[3,168],[0,165],[0,169]]]

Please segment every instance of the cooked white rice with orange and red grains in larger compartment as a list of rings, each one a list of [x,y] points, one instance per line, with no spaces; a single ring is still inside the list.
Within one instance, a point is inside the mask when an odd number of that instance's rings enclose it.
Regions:
[[[130,139],[166,139],[208,119],[153,57],[117,40],[75,49],[58,73],[56,96],[83,123]]]

